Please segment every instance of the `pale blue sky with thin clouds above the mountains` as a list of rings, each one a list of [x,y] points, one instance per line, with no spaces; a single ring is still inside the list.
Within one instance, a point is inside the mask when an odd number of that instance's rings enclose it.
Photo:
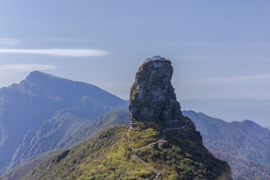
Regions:
[[[269,0],[0,0],[0,87],[31,71],[128,99],[144,59],[178,100],[270,99]]]

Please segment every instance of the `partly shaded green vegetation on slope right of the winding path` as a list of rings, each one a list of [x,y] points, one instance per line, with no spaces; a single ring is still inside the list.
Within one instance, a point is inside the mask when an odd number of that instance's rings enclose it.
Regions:
[[[213,157],[200,143],[178,138],[177,131],[166,131],[167,148],[158,146],[133,150],[161,173],[160,179],[215,179],[227,163]]]

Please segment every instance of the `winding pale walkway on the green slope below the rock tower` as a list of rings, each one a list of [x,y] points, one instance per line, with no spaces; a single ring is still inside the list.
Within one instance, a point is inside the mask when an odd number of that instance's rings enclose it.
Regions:
[[[143,146],[143,147],[139,147],[139,148],[132,148],[132,147],[130,146],[130,144],[129,144],[129,142],[128,142],[128,131],[126,132],[126,141],[127,141],[127,144],[128,144],[128,146],[129,146],[129,148],[131,149],[130,152],[129,152],[129,153],[130,153],[130,157],[131,157],[131,158],[137,158],[137,159],[139,159],[142,163],[148,165],[151,169],[153,169],[153,171],[156,173],[156,176],[155,176],[152,180],[157,179],[157,177],[160,175],[160,172],[158,172],[158,171],[157,171],[155,168],[153,168],[150,164],[148,164],[147,162],[145,162],[144,160],[142,160],[139,156],[137,156],[136,154],[133,154],[132,151],[133,151],[133,150],[142,149],[142,148],[148,147],[148,146],[151,145],[151,144],[154,144],[154,143],[157,143],[157,142],[159,142],[159,141],[165,140],[165,131],[166,131],[166,130],[182,129],[182,128],[184,128],[185,126],[186,126],[186,125],[184,125],[184,126],[182,126],[182,127],[179,127],[179,128],[167,128],[167,129],[164,129],[164,130],[163,130],[163,137],[162,137],[161,139],[159,139],[159,140],[157,140],[157,141],[155,141],[155,142],[149,143],[148,145],[145,145],[145,146]],[[129,129],[130,129],[130,128],[129,128]]]

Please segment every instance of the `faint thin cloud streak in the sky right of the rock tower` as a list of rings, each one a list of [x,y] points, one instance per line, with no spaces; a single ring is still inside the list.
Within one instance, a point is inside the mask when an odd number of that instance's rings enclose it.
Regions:
[[[198,81],[203,81],[203,82],[232,82],[232,81],[253,80],[253,79],[270,79],[270,74],[253,74],[253,75],[242,75],[242,76],[234,76],[234,77],[216,77],[216,78],[200,79]]]

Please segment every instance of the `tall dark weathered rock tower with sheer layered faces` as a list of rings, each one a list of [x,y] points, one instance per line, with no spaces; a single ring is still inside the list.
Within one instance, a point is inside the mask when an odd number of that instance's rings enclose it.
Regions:
[[[171,85],[173,68],[169,60],[141,64],[130,88],[131,126],[136,121],[154,121],[163,128],[181,127],[182,113]]]

